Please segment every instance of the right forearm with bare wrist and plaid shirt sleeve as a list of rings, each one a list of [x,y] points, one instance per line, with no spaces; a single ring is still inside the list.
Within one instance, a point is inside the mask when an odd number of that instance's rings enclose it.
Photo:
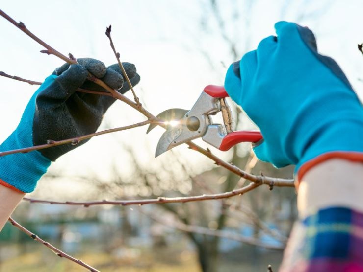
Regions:
[[[362,177],[363,163],[344,159],[306,173],[298,190],[299,220],[280,272],[363,270]]]

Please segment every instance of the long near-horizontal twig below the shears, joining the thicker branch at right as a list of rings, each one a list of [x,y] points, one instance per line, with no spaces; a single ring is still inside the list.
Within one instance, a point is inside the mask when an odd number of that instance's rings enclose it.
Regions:
[[[41,200],[41,199],[32,199],[32,198],[23,198],[23,200],[29,201],[30,203],[43,203],[43,204],[63,204],[63,205],[76,205],[76,206],[84,206],[89,207],[93,205],[122,205],[122,206],[129,206],[129,205],[145,205],[145,204],[164,204],[164,203],[186,203],[186,202],[193,202],[193,201],[204,201],[204,200],[216,200],[216,199],[224,199],[230,198],[233,196],[240,196],[246,192],[249,192],[261,184],[251,182],[245,187],[220,193],[220,194],[209,194],[209,195],[199,195],[199,196],[191,196],[191,197],[158,197],[156,199],[141,199],[141,200],[100,200],[100,201],[85,201],[85,202],[74,202],[74,201],[52,201],[52,200]]]

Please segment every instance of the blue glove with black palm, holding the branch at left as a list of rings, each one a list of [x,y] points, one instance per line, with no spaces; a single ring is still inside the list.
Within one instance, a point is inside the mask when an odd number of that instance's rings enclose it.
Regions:
[[[105,91],[87,81],[87,70],[121,93],[128,91],[118,64],[106,68],[95,59],[77,60],[79,64],[65,64],[51,76],[31,97],[16,130],[0,145],[0,151],[25,148],[94,133],[100,126],[106,110],[115,99],[110,96],[77,92],[78,88]],[[133,64],[124,63],[132,85],[140,81]],[[80,146],[65,144],[0,157],[0,183],[22,192],[32,192],[37,181],[47,171],[51,161]]]

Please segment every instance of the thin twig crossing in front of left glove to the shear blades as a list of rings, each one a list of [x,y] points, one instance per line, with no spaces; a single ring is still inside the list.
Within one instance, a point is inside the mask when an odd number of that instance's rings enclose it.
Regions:
[[[74,138],[70,138],[70,139],[66,139],[66,140],[60,140],[60,141],[48,140],[46,144],[0,152],[0,157],[5,156],[5,155],[9,155],[9,154],[15,154],[15,153],[28,153],[30,151],[41,150],[41,149],[45,149],[45,148],[49,148],[49,147],[53,147],[53,146],[57,146],[57,145],[67,144],[67,143],[70,143],[72,145],[76,145],[80,141],[92,138],[94,136],[104,135],[104,134],[107,134],[107,133],[112,133],[112,132],[117,132],[117,131],[128,130],[128,129],[132,129],[132,128],[136,128],[136,127],[145,126],[145,125],[148,125],[148,124],[150,124],[150,120],[146,120],[146,121],[136,123],[136,124],[133,124],[133,125],[130,125],[130,126],[103,130],[103,131],[99,131],[99,132],[96,132],[96,133],[91,133],[91,134],[87,134],[87,135],[83,135],[83,136],[79,136],[79,137],[74,137]]]

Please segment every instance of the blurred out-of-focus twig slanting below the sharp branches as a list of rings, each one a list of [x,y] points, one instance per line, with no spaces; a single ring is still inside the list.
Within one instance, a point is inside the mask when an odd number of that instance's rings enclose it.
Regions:
[[[259,239],[252,238],[252,237],[246,237],[239,233],[233,233],[233,232],[229,232],[229,231],[225,231],[225,230],[218,230],[218,229],[213,230],[213,229],[209,229],[207,227],[187,225],[187,224],[184,224],[181,222],[170,222],[170,221],[162,220],[161,219],[162,217],[156,217],[151,212],[145,212],[145,211],[141,211],[141,210],[140,210],[140,212],[149,216],[156,222],[161,223],[163,226],[177,228],[177,229],[180,229],[185,232],[200,233],[200,234],[205,234],[205,235],[209,235],[209,236],[218,236],[221,238],[231,239],[234,241],[239,241],[242,243],[259,246],[259,247],[262,247],[265,249],[275,249],[275,250],[284,250],[285,249],[284,246],[275,246],[275,245],[266,244],[266,243],[263,243],[262,241],[260,241]]]

